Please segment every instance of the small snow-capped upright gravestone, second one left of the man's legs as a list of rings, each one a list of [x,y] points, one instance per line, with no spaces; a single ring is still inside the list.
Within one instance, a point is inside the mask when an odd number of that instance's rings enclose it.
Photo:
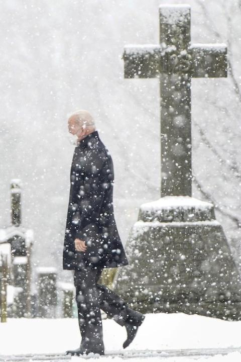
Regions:
[[[36,268],[38,290],[38,317],[55,318],[57,305],[57,270],[54,267]]]

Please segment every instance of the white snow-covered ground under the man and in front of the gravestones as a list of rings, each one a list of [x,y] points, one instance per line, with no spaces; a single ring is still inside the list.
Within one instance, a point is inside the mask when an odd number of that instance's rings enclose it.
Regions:
[[[126,339],[125,327],[111,319],[103,320],[105,351],[123,351]],[[65,319],[8,319],[0,323],[0,360],[2,355],[21,353],[64,353],[80,344],[80,333],[76,318]],[[146,361],[156,362],[233,362],[241,360],[241,353],[232,351],[227,355],[205,356],[207,348],[241,347],[241,321],[229,322],[220,319],[184,313],[147,314],[138,334],[125,351],[146,350]],[[155,356],[155,350],[204,349],[203,356],[168,356],[167,353]],[[241,349],[240,349],[241,350]],[[73,356],[71,362],[81,357]],[[100,356],[98,360],[123,361],[119,356]],[[31,360],[31,359],[30,359]],[[91,362],[92,358],[88,358]],[[96,361],[96,358],[94,358]],[[137,362],[140,357],[131,358]]]

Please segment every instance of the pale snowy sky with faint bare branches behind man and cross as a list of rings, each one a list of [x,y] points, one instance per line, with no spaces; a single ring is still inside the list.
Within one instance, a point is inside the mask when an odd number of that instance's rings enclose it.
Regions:
[[[10,181],[22,180],[33,262],[62,270],[74,146],[67,114],[92,113],[115,171],[114,211],[125,245],[144,202],[160,198],[158,79],[124,79],[126,44],[159,42],[161,4],[191,5],[192,43],[226,43],[228,77],[192,80],[193,197],[212,201],[239,263],[241,2],[8,0],[0,12],[0,227]],[[240,268],[241,269],[241,268]]]

